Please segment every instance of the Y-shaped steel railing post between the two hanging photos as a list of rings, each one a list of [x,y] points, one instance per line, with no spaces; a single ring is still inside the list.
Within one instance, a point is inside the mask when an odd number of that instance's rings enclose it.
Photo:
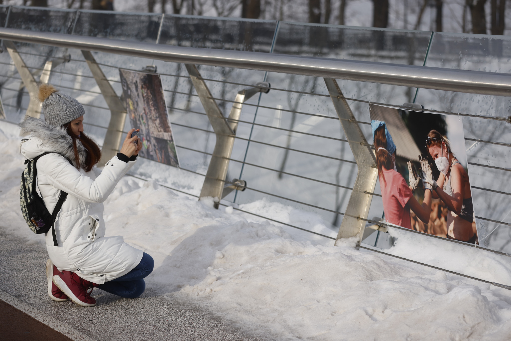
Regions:
[[[235,103],[233,103],[233,107],[230,109],[229,117],[225,118],[197,67],[193,64],[185,64],[185,66],[217,138],[210,165],[207,168],[206,178],[200,191],[199,200],[203,197],[213,197],[215,208],[218,209],[220,199],[224,197],[222,194],[225,188],[225,177],[229,167],[229,158],[233,152],[236,129],[238,128],[243,103],[257,93],[268,93],[270,84],[261,82],[256,84],[255,87],[238,92]]]

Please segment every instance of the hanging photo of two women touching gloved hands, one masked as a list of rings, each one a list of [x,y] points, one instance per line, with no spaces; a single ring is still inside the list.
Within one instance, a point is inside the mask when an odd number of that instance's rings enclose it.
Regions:
[[[385,221],[478,243],[461,118],[375,104],[369,113]]]

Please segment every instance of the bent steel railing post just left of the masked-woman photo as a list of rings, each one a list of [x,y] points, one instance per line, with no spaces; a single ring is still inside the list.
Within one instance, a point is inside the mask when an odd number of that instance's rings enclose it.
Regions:
[[[364,234],[365,221],[359,218],[367,219],[371,199],[373,198],[373,195],[368,193],[374,192],[378,176],[375,154],[365,140],[364,134],[360,130],[350,106],[344,99],[337,81],[332,78],[324,78],[324,82],[327,84],[342,130],[346,140],[349,141],[358,168],[355,185],[353,185],[352,194],[337,234],[336,244],[341,238],[350,238],[357,235],[359,235],[360,243]]]

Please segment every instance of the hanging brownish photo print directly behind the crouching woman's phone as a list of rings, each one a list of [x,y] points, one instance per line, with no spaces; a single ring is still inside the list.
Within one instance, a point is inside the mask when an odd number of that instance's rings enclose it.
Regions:
[[[119,74],[131,127],[140,128],[140,155],[179,167],[160,76],[125,69],[119,69]]]

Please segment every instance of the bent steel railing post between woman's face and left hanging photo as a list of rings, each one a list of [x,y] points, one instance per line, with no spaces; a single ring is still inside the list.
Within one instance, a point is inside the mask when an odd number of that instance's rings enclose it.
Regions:
[[[108,129],[106,130],[105,140],[101,149],[101,160],[99,162],[100,166],[104,166],[119,151],[123,137],[124,122],[126,121],[126,108],[105,77],[96,59],[92,56],[92,53],[90,51],[82,51],[82,54],[110,109],[110,123],[108,123]]]

